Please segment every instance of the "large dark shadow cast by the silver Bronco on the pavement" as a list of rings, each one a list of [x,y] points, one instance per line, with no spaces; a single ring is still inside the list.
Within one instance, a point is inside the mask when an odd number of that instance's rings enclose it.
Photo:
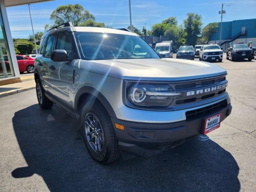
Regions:
[[[12,176],[38,174],[50,191],[240,190],[236,160],[207,136],[150,158],[101,165],[88,154],[78,122],[56,105],[51,110],[29,106],[16,112],[12,122],[28,164]]]

